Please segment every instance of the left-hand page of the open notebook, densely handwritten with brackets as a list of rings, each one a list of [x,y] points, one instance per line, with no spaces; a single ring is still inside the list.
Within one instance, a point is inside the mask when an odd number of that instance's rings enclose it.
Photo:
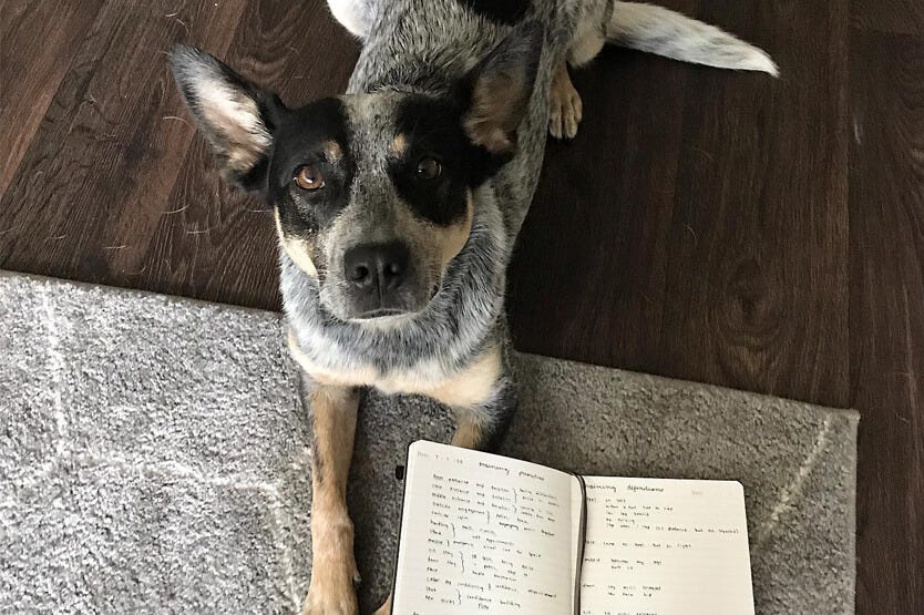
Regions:
[[[574,612],[574,476],[419,441],[404,481],[394,613]]]

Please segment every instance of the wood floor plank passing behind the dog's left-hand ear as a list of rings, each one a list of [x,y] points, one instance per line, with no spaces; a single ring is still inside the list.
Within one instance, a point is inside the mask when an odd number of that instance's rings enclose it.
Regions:
[[[280,0],[248,6],[224,59],[297,106],[342,93],[358,54],[359,45],[322,1]],[[187,152],[150,233],[148,247],[137,260],[119,263],[120,271],[145,267],[136,278],[126,278],[129,284],[206,300],[281,307],[273,215],[219,181],[201,137]]]

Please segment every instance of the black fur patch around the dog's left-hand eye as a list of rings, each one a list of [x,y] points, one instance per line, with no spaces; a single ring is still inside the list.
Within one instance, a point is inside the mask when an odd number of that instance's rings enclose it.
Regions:
[[[353,175],[343,104],[322,99],[290,113],[278,130],[269,171],[269,202],[279,208],[283,228],[307,235],[326,226],[343,207]],[[327,144],[340,150],[328,160]],[[325,178],[317,191],[294,189],[294,177],[304,165],[315,166]]]

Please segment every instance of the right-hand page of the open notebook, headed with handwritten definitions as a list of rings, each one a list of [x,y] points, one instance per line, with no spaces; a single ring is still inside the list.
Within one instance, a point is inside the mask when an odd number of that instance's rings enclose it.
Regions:
[[[741,483],[584,480],[582,615],[753,615]]]

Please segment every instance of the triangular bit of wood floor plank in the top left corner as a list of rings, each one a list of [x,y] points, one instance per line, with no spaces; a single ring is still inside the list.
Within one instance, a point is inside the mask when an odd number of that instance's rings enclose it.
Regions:
[[[101,6],[102,0],[0,2],[0,196]]]

